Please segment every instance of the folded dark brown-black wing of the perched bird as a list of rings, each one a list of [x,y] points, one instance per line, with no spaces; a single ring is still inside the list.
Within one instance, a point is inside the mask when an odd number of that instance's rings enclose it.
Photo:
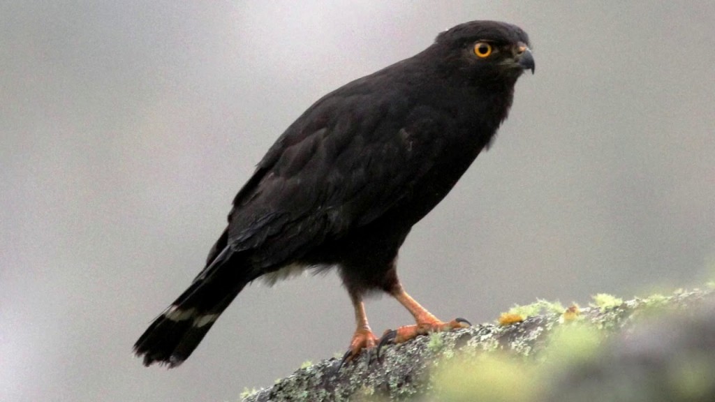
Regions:
[[[445,117],[383,99],[375,107],[374,97],[331,94],[297,119],[236,196],[228,245],[252,250],[254,267],[270,270],[410,197],[438,160]]]

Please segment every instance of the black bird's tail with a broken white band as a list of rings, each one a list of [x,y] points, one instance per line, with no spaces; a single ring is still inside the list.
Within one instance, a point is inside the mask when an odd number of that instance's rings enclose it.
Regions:
[[[225,247],[139,337],[134,353],[144,356],[144,366],[155,362],[169,368],[179,366],[250,282],[245,270],[232,261],[232,255],[230,247]]]

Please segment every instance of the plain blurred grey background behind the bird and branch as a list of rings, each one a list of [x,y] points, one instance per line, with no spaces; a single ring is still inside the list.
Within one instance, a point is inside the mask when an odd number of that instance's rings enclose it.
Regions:
[[[352,310],[329,274],[247,288],[180,368],[131,354],[293,119],[473,19],[526,29],[536,75],[408,237],[408,291],[479,323],[703,283],[712,1],[4,1],[0,399],[235,401],[345,350]],[[388,298],[368,315],[378,333],[410,322]]]

